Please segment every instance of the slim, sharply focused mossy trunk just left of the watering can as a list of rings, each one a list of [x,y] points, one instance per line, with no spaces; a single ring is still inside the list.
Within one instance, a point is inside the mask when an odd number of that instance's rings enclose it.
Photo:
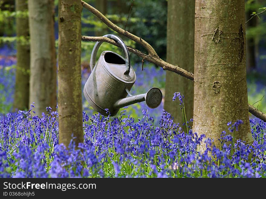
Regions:
[[[83,143],[81,98],[81,11],[79,0],[59,1],[59,143]]]

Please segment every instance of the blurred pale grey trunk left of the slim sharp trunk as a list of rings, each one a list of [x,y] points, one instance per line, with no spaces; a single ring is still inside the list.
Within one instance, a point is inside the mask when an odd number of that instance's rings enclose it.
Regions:
[[[31,74],[29,104],[41,117],[46,107],[56,108],[56,61],[53,0],[28,1],[31,37]]]

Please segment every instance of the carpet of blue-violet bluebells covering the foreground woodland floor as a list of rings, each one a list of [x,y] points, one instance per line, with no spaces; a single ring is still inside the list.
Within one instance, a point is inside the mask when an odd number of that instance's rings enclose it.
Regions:
[[[266,123],[250,120],[254,143],[222,132],[220,146],[204,135],[188,133],[165,110],[158,126],[148,110],[144,120],[130,115],[104,117],[83,112],[84,142],[58,143],[58,114],[29,111],[0,121],[0,177],[266,177]],[[108,112],[108,110],[106,110]],[[228,123],[229,132],[242,121]],[[204,145],[206,150],[199,151]]]

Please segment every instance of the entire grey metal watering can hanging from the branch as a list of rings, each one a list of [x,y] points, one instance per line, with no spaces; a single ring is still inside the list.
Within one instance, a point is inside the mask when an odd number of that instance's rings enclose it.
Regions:
[[[146,101],[149,108],[157,108],[162,101],[159,88],[151,88],[147,93],[131,95],[129,92],[136,81],[134,69],[130,66],[128,49],[123,40],[113,34],[103,37],[113,39],[122,47],[125,58],[112,51],[103,51],[95,64],[97,51],[102,42],[96,42],[90,59],[91,74],[83,88],[88,103],[99,113],[115,116],[120,108]],[[129,97],[127,97],[129,95]]]

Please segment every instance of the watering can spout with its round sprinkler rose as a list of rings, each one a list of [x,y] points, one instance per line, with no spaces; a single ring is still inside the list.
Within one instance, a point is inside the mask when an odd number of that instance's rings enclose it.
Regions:
[[[151,88],[147,93],[132,96],[127,90],[129,97],[117,100],[113,108],[119,109],[137,102],[146,101],[149,108],[157,108],[162,101],[162,92],[159,88]]]

